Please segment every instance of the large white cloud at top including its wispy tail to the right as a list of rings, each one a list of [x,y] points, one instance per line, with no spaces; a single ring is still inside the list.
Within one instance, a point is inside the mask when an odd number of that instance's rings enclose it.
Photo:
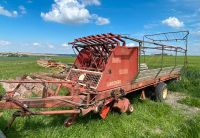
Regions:
[[[110,22],[108,19],[99,17],[98,15],[91,14],[86,8],[87,5],[98,5],[98,0],[86,0],[80,2],[78,0],[55,0],[52,5],[51,11],[41,13],[41,17],[45,21],[57,22],[57,23],[89,23],[95,20],[97,24],[99,20],[102,22]]]

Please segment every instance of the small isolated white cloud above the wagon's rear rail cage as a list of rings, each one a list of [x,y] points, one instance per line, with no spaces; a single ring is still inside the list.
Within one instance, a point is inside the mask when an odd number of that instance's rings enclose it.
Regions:
[[[168,19],[163,20],[162,23],[174,28],[180,28],[184,26],[184,23],[176,17],[169,17]]]

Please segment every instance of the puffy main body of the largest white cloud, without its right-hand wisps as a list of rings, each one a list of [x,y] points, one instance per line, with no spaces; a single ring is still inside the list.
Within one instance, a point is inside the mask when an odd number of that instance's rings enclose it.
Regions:
[[[52,10],[41,16],[46,21],[58,23],[87,23],[90,13],[77,0],[55,0]]]

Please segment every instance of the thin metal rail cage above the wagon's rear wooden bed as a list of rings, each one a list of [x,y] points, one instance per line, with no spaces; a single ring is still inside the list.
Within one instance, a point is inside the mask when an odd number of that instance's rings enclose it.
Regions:
[[[182,34],[182,37],[180,36]],[[164,36],[164,37],[162,37]],[[187,52],[188,52],[188,36],[189,31],[178,31],[178,32],[165,32],[165,33],[158,33],[158,34],[151,34],[151,35],[144,35],[143,40],[131,38],[129,36],[123,36],[122,38],[132,40],[134,42],[138,42],[139,44],[139,50],[140,50],[140,56],[139,56],[139,65],[141,63],[141,56],[142,52],[144,53],[144,62],[145,62],[145,49],[156,49],[161,50],[161,56],[162,56],[162,62],[161,62],[161,69],[163,67],[163,56],[164,51],[172,51],[175,52],[175,66],[177,63],[177,53],[184,53],[185,59],[184,59],[184,67],[187,67]],[[162,37],[163,39],[159,39],[159,37]],[[147,39],[147,40],[146,40]],[[170,46],[167,44],[163,44],[162,42],[185,42],[185,46],[183,47],[177,47],[177,46]],[[153,44],[154,47],[145,46],[145,44]]]

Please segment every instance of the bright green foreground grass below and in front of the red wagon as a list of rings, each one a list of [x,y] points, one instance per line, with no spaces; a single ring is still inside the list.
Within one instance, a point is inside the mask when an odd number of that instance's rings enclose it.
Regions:
[[[106,120],[98,115],[80,117],[70,128],[63,126],[65,115],[18,118],[10,129],[9,137],[180,137],[198,135],[190,122],[179,111],[170,106],[152,101],[134,102],[131,115],[111,112]],[[9,113],[0,122],[6,125]],[[197,123],[197,124],[196,124]],[[200,122],[196,122],[197,126]],[[180,128],[185,126],[184,131]],[[187,132],[187,133],[185,133]],[[195,134],[193,134],[195,132]]]

